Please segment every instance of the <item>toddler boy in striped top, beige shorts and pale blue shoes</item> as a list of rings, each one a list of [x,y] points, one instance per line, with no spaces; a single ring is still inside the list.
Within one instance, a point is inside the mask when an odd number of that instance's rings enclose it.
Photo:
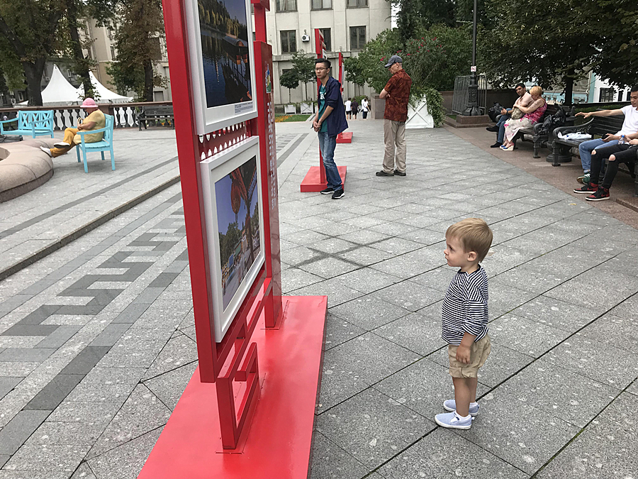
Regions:
[[[470,429],[478,414],[476,373],[490,355],[488,336],[488,281],[480,263],[492,244],[492,230],[478,218],[466,218],[445,233],[447,264],[460,268],[443,300],[442,338],[447,341],[449,374],[454,399],[443,402],[450,411],[437,414],[439,426]]]

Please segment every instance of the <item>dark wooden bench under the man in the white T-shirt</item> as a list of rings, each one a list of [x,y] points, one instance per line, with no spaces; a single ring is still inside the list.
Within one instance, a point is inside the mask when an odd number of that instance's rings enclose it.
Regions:
[[[589,133],[591,139],[600,138],[605,133],[615,134],[622,128],[622,122],[625,121],[625,115],[617,116],[592,116],[591,120],[582,125],[561,126],[554,129],[549,138],[549,149],[552,153],[547,157],[547,161],[552,165],[558,166],[561,163],[571,161],[571,148],[578,148],[578,145],[588,140],[568,140],[559,138],[559,133]]]

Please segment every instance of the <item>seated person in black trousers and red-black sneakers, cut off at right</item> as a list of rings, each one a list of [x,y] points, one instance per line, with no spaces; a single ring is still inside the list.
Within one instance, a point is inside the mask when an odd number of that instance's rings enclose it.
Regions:
[[[633,165],[636,161],[638,150],[638,132],[627,135],[622,143],[606,146],[591,152],[591,172],[589,182],[579,189],[574,189],[574,193],[589,193],[585,199],[589,202],[600,202],[609,199],[609,189],[611,187],[619,163]],[[600,182],[600,170],[605,159],[609,158],[607,170],[603,182]]]

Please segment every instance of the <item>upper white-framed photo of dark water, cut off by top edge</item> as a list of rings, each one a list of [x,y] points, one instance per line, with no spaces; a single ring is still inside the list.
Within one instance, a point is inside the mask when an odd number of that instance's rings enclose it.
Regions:
[[[250,0],[186,0],[198,135],[257,116]]]

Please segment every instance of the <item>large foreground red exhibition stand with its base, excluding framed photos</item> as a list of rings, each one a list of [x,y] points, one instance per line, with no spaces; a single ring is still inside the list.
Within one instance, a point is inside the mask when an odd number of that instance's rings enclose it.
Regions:
[[[191,82],[196,72],[186,1],[163,0],[163,6],[199,365],[138,477],[305,479],[328,299],[281,295],[272,47],[266,43],[269,0],[252,0],[257,117],[205,134],[198,134],[196,121],[200,105]],[[225,150],[232,153],[254,136],[259,136],[265,262],[220,339],[211,280],[216,263],[208,248],[214,238],[207,232],[200,163]]]

